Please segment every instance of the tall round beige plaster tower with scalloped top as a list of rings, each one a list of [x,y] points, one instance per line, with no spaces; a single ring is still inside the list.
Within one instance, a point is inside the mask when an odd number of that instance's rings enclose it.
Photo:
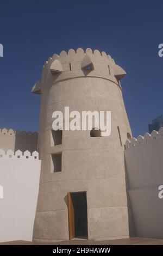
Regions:
[[[32,89],[41,94],[34,240],[129,236],[124,144],[131,131],[120,84],[124,75],[109,55],[90,48],[62,51],[45,63]],[[53,131],[53,112],[64,113],[66,106],[70,112],[111,111],[111,135],[93,127]]]

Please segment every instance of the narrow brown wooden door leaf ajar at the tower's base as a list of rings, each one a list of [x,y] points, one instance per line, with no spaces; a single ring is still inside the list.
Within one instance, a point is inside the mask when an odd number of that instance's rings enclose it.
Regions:
[[[74,207],[73,207],[71,193],[67,193],[67,203],[68,203],[69,239],[73,239],[75,236],[75,229],[74,229]]]

